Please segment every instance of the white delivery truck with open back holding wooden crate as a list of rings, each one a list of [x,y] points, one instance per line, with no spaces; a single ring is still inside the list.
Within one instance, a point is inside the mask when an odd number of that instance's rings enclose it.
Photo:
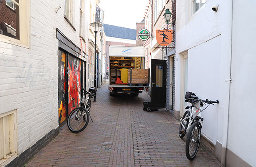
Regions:
[[[150,71],[144,69],[144,47],[109,47],[109,90],[110,96],[128,93],[138,96],[144,88],[148,90]]]

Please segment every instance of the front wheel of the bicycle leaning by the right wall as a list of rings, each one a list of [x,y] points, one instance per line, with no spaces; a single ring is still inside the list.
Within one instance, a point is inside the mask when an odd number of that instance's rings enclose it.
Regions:
[[[201,137],[201,128],[199,126],[199,122],[194,122],[187,136],[186,156],[189,160],[193,160],[197,155]]]

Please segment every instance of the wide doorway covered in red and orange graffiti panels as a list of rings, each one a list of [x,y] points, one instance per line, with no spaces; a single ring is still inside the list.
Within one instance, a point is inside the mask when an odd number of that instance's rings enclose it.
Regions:
[[[64,124],[69,113],[78,107],[81,101],[81,87],[83,86],[83,71],[81,63],[82,61],[79,58],[74,57],[64,50],[59,50],[59,125]]]

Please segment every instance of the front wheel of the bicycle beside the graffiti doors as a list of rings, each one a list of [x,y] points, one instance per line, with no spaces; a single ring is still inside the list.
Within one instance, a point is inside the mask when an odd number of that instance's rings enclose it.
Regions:
[[[83,108],[76,108],[67,119],[67,127],[73,133],[82,132],[89,122],[89,113]]]

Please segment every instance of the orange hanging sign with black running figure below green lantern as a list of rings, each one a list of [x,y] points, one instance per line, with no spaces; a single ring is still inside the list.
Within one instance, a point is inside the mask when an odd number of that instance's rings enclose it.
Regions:
[[[159,45],[168,46],[173,40],[173,30],[156,30],[156,37]]]

